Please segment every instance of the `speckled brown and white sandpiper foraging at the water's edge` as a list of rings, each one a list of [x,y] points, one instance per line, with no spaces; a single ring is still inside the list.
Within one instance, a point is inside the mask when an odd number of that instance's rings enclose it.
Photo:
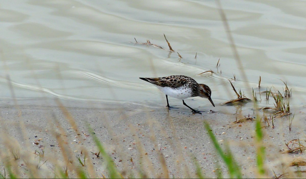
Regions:
[[[204,97],[208,98],[211,104],[215,107],[215,104],[211,100],[211,90],[207,85],[199,84],[193,78],[183,75],[172,75],[160,78],[140,78],[144,81],[156,85],[156,87],[166,94],[167,107],[170,108],[168,102],[168,96],[175,97],[183,100],[183,104],[191,109],[193,112],[200,113],[189,107],[184,99],[188,97]]]

